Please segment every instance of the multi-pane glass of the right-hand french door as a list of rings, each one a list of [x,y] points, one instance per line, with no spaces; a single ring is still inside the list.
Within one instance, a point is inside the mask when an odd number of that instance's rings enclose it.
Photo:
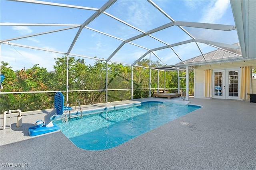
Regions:
[[[238,71],[228,71],[228,96],[238,96]]]

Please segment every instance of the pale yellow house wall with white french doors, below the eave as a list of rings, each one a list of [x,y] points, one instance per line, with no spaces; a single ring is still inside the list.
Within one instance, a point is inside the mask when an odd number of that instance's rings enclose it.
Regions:
[[[246,66],[250,66],[251,69],[256,69],[256,59],[193,66],[195,69],[194,97],[240,99],[242,78],[241,67]],[[212,97],[204,97],[204,70],[206,69],[212,69]],[[215,88],[216,86],[221,87],[221,89]],[[251,79],[251,87],[251,93],[256,93],[256,79]]]

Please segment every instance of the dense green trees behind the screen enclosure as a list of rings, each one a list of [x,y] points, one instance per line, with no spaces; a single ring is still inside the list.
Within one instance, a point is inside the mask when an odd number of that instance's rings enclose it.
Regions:
[[[8,63],[1,61],[1,74],[5,76],[1,92],[30,91],[66,91],[66,56],[55,58],[54,71],[35,64],[29,69],[12,70]],[[133,67],[133,98],[144,98],[149,95],[149,63],[151,67],[161,66],[158,61],[142,59]],[[131,66],[108,63],[108,102],[131,99]],[[180,77],[186,71],[180,71]],[[190,88],[193,88],[193,72],[189,73]],[[178,71],[166,71],[166,88],[178,87]],[[185,79],[181,79],[180,87],[186,87]],[[151,88],[157,88],[157,70],[151,70]],[[159,88],[164,88],[164,71],[159,71]],[[103,90],[102,90],[103,89]],[[81,105],[106,102],[106,62],[95,60],[94,65],[87,65],[84,59],[68,58],[68,103],[74,106],[78,99]],[[122,89],[122,90],[112,90]],[[84,90],[84,91],[77,91]],[[86,91],[93,90],[93,91]],[[97,91],[100,90],[100,91]],[[65,92],[62,92],[64,97]],[[152,93],[152,91],[151,91]],[[190,92],[192,93],[192,92]],[[24,111],[53,108],[54,93],[13,93],[0,96],[0,113],[10,109]],[[66,99],[65,99],[66,100]]]

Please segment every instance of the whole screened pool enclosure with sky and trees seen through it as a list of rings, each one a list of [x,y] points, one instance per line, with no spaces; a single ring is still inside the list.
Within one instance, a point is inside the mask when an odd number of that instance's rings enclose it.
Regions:
[[[194,92],[189,59],[202,56],[200,64],[256,57],[248,48],[255,45],[248,36],[252,25],[247,27],[253,16],[245,12],[255,10],[252,0],[0,3],[1,113],[53,108],[56,91],[70,106],[77,99],[86,105],[160,90],[184,92],[188,100]],[[216,49],[229,55],[209,61],[206,54]]]

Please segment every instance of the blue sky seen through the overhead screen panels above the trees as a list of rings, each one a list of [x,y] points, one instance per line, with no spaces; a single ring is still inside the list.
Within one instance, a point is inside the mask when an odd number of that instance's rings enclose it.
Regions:
[[[48,2],[100,8],[107,1],[56,0]],[[175,21],[235,25],[229,0],[155,0],[153,2]],[[43,24],[82,24],[95,12],[94,10],[64,8],[6,0],[0,0],[0,11],[1,23]],[[118,0],[112,6],[110,6],[106,12],[144,32],[171,22],[166,16],[156,10],[152,4],[144,0]],[[105,14],[101,14],[87,26],[88,28],[104,32],[122,40],[126,40],[141,34],[141,32],[116,21]],[[7,40],[10,38],[58,30],[61,28],[66,27],[0,26],[0,40]],[[194,38],[228,44],[238,42],[236,30],[224,32],[191,27],[183,28],[194,36]],[[77,31],[78,28],[74,28],[62,32],[54,32],[40,36],[33,36],[30,38],[12,40],[10,43],[18,43],[66,52],[68,51]],[[177,26],[166,28],[151,35],[168,44],[191,39]],[[72,48],[71,53],[107,59],[121,43],[121,40],[117,40],[84,28],[80,33],[74,47]],[[154,49],[165,45],[164,43],[159,42],[149,36],[134,40],[132,43],[146,47],[147,49]],[[203,53],[215,50],[214,47],[210,47],[209,45],[205,45],[203,43],[198,44],[200,45]],[[131,64],[146,53],[146,51],[148,51],[147,49],[126,43],[112,57],[111,61],[120,61],[122,63]],[[182,60],[201,55],[195,43],[175,46],[173,49],[176,51],[176,53],[178,53]],[[174,65],[180,62],[180,59],[178,59],[176,54],[170,48],[155,51],[154,53],[167,65]],[[54,58],[61,56],[63,56],[63,54],[1,44],[0,60],[8,62],[14,70],[22,69],[24,67],[28,69],[34,64],[38,63],[40,67],[45,67],[48,71],[52,71]],[[147,55],[146,58],[149,58],[149,55]],[[153,61],[157,60],[154,55],[151,55],[151,59]],[[94,61],[95,60],[93,59],[85,58],[86,64],[92,65]]]

